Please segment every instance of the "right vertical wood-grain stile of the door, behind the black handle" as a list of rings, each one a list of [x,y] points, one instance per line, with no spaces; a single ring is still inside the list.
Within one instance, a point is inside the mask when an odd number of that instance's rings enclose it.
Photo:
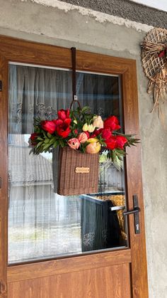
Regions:
[[[139,114],[137,101],[137,70],[136,63],[129,66],[122,75],[122,90],[124,102],[125,133],[136,134],[139,137]],[[129,216],[129,243],[132,248],[132,289],[134,298],[148,297],[147,271],[146,271],[146,243],[144,230],[144,203],[142,193],[142,160],[140,146],[127,149],[127,196],[128,207],[133,209],[132,196],[138,195],[139,223],[141,233],[134,233],[134,216]]]

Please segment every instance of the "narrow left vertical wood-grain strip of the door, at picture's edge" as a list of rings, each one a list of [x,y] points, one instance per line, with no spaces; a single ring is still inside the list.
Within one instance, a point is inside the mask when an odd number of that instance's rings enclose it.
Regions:
[[[3,55],[0,55],[0,80],[4,82],[3,92],[0,91],[0,177],[1,177],[1,188],[0,188],[0,297],[7,297],[7,189],[8,189],[8,154],[7,154],[7,112],[8,106],[6,102],[7,97],[7,67],[6,59]]]

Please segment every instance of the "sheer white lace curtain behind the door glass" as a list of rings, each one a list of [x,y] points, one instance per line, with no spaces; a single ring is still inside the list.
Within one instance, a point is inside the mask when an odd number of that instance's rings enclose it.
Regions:
[[[113,112],[117,78],[78,73],[81,106]],[[8,88],[8,261],[81,252],[81,199],[62,197],[52,189],[52,156],[29,155],[33,118],[53,119],[72,99],[71,72],[10,65]],[[110,101],[110,105],[109,105]],[[86,216],[86,215],[85,215]],[[86,222],[86,220],[85,220]],[[86,230],[86,235],[92,235]],[[87,236],[86,236],[87,237]],[[87,239],[87,238],[86,238]],[[89,239],[89,238],[88,238]],[[90,247],[89,247],[90,249]]]

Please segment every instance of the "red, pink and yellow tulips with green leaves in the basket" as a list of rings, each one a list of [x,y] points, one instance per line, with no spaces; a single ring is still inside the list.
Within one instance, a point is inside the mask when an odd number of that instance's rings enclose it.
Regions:
[[[35,118],[34,133],[29,140],[33,154],[70,147],[85,154],[106,151],[108,159],[117,163],[117,159],[125,156],[127,146],[139,142],[132,134],[118,132],[121,127],[117,117],[110,116],[103,121],[99,115],[91,114],[89,107],[62,109],[57,115],[52,120]]]

